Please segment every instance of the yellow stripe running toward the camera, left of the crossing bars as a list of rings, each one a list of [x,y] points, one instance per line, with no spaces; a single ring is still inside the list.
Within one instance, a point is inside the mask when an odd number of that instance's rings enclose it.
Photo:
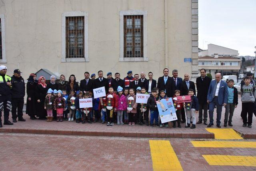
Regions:
[[[149,145],[154,171],[183,170],[170,141],[149,140]]]

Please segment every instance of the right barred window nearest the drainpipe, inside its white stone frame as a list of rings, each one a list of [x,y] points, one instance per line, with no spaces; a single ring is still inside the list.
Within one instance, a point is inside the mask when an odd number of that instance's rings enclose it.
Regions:
[[[124,16],[124,58],[143,58],[143,15]]]

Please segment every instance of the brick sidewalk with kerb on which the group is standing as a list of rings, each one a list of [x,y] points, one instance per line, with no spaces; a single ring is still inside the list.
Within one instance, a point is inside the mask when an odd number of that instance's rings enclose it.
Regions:
[[[233,128],[234,130],[241,133],[244,138],[256,139],[256,125],[255,116],[253,116],[252,128],[242,127],[242,119],[240,112],[242,109],[241,103],[234,111],[233,116]],[[216,111],[215,111],[216,112]],[[222,110],[221,126],[224,124],[224,112]],[[3,115],[3,114],[2,114]],[[158,128],[149,127],[146,125],[114,125],[112,127],[106,126],[102,123],[76,123],[75,121],[64,121],[64,122],[46,122],[45,120],[31,120],[28,115],[24,114],[25,122],[18,121],[14,125],[3,125],[0,128],[0,132],[13,132],[13,133],[44,133],[44,134],[60,134],[60,135],[94,135],[94,136],[118,136],[118,137],[159,137],[159,138],[214,138],[214,134],[206,131],[206,125],[196,124],[196,129],[185,128],[185,123],[182,123],[182,128]],[[198,115],[197,115],[198,119]],[[3,116],[2,116],[3,120]],[[10,113],[10,121],[12,121]],[[209,122],[209,120],[208,120]],[[214,126],[216,127],[216,113],[214,114]]]

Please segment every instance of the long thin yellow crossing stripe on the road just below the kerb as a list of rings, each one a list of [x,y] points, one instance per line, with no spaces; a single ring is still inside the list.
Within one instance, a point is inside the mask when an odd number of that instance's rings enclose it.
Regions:
[[[194,147],[213,148],[256,148],[256,142],[252,141],[191,141]]]

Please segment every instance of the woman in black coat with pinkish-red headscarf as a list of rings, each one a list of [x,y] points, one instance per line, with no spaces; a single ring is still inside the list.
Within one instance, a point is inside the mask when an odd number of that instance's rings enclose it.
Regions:
[[[47,84],[43,76],[38,78],[38,84],[36,86],[36,115],[39,119],[47,119],[46,109],[44,109],[44,100],[47,94]]]

